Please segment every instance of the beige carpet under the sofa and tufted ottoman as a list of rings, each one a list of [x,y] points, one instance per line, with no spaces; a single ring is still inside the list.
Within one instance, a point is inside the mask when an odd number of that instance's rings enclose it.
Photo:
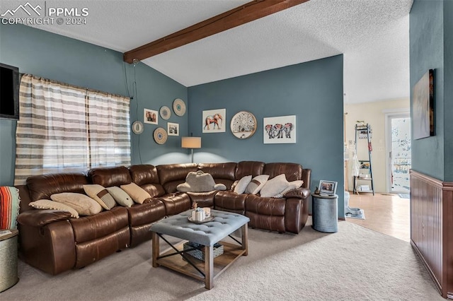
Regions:
[[[0,300],[443,300],[408,242],[342,221],[339,232],[249,230],[241,257],[206,290],[151,266],[151,242],[49,276],[19,262]]]

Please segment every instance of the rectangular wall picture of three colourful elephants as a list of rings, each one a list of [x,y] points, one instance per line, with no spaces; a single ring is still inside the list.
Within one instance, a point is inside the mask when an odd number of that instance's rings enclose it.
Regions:
[[[263,143],[296,143],[296,115],[263,118]]]

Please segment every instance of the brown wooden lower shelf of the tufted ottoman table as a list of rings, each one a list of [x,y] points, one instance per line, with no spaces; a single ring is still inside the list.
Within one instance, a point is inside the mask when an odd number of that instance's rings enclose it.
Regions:
[[[180,242],[175,247],[179,251],[183,251],[183,246],[185,242]],[[246,254],[246,250],[241,249],[241,246],[237,244],[231,244],[229,242],[219,242],[224,246],[224,253],[214,258],[214,279],[217,278],[223,271],[226,270],[236,259],[239,259],[243,254]],[[161,253],[160,256],[165,256],[168,254],[173,254],[174,250],[169,248],[165,252]],[[201,261],[200,259],[196,259],[193,256],[190,256],[190,261],[192,261],[197,268],[200,270],[205,271],[205,261]],[[164,258],[157,259],[157,264],[159,266],[165,266],[166,268],[170,268],[173,271],[177,271],[179,273],[183,273],[187,276],[193,277],[200,281],[205,281],[205,277],[200,275],[200,273],[193,268],[187,261],[183,259],[181,256],[168,256]]]

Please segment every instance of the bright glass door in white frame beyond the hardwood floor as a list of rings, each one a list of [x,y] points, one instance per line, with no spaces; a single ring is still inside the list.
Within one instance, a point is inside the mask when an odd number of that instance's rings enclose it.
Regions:
[[[409,194],[411,170],[411,116],[409,112],[386,114],[387,192]]]

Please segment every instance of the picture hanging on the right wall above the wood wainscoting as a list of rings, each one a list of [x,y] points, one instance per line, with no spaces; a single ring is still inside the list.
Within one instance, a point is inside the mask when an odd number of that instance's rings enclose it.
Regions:
[[[434,136],[434,70],[426,72],[413,87],[413,138]]]

